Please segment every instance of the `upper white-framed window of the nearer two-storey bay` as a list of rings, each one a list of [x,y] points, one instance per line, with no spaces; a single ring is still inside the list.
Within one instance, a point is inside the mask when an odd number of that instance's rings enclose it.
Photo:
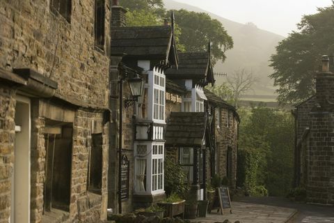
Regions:
[[[154,83],[154,79],[158,81]],[[161,82],[161,80],[163,80],[163,82]],[[160,70],[159,68],[150,70],[150,72],[148,72],[148,85],[148,119],[154,123],[166,124],[166,76],[164,75],[164,70]],[[154,99],[156,95],[154,92],[157,91],[159,91],[158,103],[155,103]],[[154,118],[154,105],[158,106],[158,118]],[[164,117],[161,118],[160,114]]]

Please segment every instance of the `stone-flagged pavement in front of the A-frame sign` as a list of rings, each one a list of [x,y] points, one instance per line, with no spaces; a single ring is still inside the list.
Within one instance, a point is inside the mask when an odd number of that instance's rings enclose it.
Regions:
[[[296,209],[267,206],[255,203],[232,201],[232,214],[208,214],[207,217],[197,217],[191,222],[214,223],[229,220],[241,223],[285,223],[296,214]]]

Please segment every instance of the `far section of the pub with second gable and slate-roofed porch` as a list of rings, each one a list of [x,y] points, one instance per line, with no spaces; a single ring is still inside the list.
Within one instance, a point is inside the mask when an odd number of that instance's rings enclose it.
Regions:
[[[210,178],[226,176],[235,188],[237,173],[239,116],[234,107],[203,90],[215,82],[209,49],[210,45],[207,52],[180,53],[179,68],[166,70],[166,77],[186,90],[180,95],[181,107],[168,118],[166,150],[177,149],[175,161],[199,200],[205,199]]]

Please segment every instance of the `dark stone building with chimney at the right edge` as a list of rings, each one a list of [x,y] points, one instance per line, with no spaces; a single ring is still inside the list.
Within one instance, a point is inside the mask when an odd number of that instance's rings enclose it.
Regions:
[[[309,202],[334,204],[334,73],[328,56],[322,63],[315,75],[315,95],[294,110],[294,183],[305,187]]]

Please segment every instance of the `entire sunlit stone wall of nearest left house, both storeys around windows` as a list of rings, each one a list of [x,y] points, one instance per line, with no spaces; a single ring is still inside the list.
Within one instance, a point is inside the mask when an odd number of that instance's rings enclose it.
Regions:
[[[31,100],[31,222],[98,222],[106,219],[109,125],[110,6],[105,5],[104,49],[95,47],[95,1],[72,0],[70,22],[51,12],[50,1],[0,1],[0,67],[29,68],[58,83],[62,100]],[[0,222],[10,215],[10,167],[13,167],[15,90],[0,86]],[[84,102],[80,107],[64,101]],[[92,109],[95,107],[96,109]],[[9,112],[8,112],[9,111]],[[45,123],[73,128],[70,211],[43,214]],[[10,125],[9,125],[10,124]],[[87,190],[91,134],[103,135],[102,192]],[[7,175],[6,175],[7,174]],[[7,197],[8,199],[2,199]],[[56,210],[55,210],[56,211]],[[56,215],[55,215],[56,214]],[[52,216],[54,217],[52,217]]]

